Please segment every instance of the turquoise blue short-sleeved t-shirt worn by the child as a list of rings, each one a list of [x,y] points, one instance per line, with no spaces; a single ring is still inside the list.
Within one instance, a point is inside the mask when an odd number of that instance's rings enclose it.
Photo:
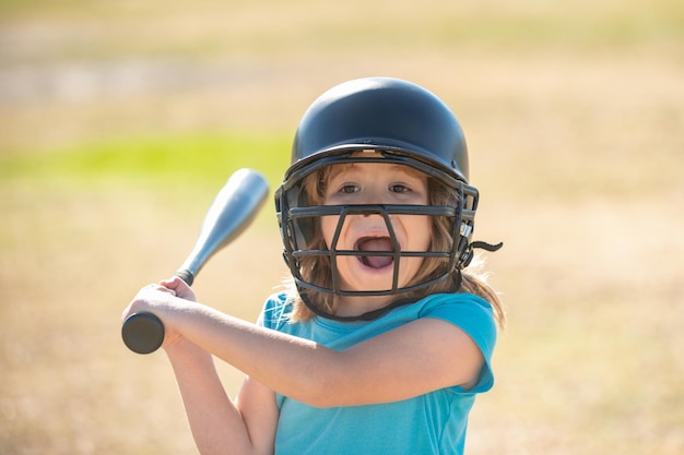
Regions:
[[[259,324],[344,350],[421,318],[436,318],[464,331],[480,347],[485,364],[477,384],[431,392],[401,402],[316,408],[276,394],[280,419],[276,455],[462,454],[468,415],[477,393],[494,384],[491,359],[496,343],[492,307],[470,294],[434,295],[399,307],[375,321],[338,322],[316,316],[290,322],[286,295],[271,296]]]

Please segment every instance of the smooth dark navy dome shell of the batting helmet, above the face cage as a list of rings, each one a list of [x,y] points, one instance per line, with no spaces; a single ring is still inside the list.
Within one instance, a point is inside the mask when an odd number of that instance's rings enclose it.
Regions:
[[[287,179],[322,157],[378,149],[408,156],[468,182],[468,146],[451,110],[413,83],[368,77],[340,84],[302,118]]]

